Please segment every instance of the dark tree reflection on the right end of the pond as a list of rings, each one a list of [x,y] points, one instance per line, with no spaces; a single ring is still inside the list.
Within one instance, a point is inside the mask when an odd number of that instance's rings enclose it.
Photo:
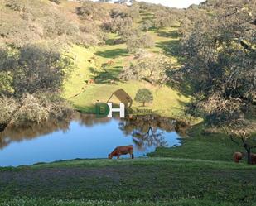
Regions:
[[[119,123],[119,128],[126,136],[133,137],[133,142],[139,150],[145,150],[150,146],[167,146],[164,131],[178,132],[177,129],[179,129],[183,135],[185,132],[180,122],[153,115],[127,118]]]

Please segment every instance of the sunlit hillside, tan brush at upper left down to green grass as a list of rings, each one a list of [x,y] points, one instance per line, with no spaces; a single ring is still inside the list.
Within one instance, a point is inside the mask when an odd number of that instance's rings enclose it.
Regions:
[[[164,7],[156,8],[167,10]],[[120,14],[113,14],[113,11]],[[134,16],[134,11],[138,12],[137,16]],[[81,2],[65,0],[60,3],[48,0],[0,0],[0,12],[0,44],[10,49],[27,44],[53,44],[56,49],[61,48],[63,55],[70,56],[77,68],[65,80],[61,96],[80,111],[94,113],[94,103],[97,100],[107,101],[116,89],[122,88],[134,98],[138,89],[147,88],[152,90],[154,97],[153,103],[147,104],[147,109],[167,117],[183,115],[184,105],[190,101],[190,97],[181,94],[181,91],[143,80],[123,82],[119,79],[118,74],[133,62],[134,54],[128,52],[125,41],[115,42],[121,38],[120,31],[103,29],[105,23],[113,20],[111,15],[127,16],[128,21],[132,21],[127,32],[137,29],[140,36],[147,33],[152,37],[155,46],[147,48],[147,52],[166,55],[173,65],[178,65],[177,57],[170,52],[176,50],[179,41],[176,26],[151,26],[148,31],[140,31],[143,22],[155,21],[157,10],[153,10],[153,7],[127,7],[99,2],[87,2],[83,6]],[[103,69],[101,65],[109,61],[114,63]],[[85,84],[89,79],[94,79],[95,83]],[[115,84],[111,84],[111,80]],[[133,104],[133,108],[139,107],[139,103]]]

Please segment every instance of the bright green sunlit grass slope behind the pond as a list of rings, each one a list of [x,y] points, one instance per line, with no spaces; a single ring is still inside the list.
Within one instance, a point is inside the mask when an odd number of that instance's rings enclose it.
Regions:
[[[178,41],[176,28],[162,28],[149,33],[155,41],[155,46],[148,49],[153,53],[164,52],[166,46],[175,46]],[[106,42],[116,38],[117,36],[109,34],[109,39]],[[117,89],[124,89],[133,99],[138,89],[150,89],[154,101],[152,104],[147,104],[147,109],[152,109],[153,113],[166,117],[182,116],[185,104],[190,101],[189,96],[181,94],[167,85],[154,86],[146,81],[120,81],[118,74],[122,71],[123,65],[128,64],[133,57],[133,54],[128,53],[125,44],[106,44],[89,48],[72,46],[69,53],[75,59],[78,69],[75,69],[70,79],[65,82],[63,95],[74,104],[75,108],[84,113],[94,113],[94,103],[97,100],[106,102]],[[173,64],[177,64],[175,56],[167,55],[167,57]],[[114,65],[108,66],[107,71],[104,71],[100,65],[109,60],[114,61]],[[97,76],[100,76],[100,79],[96,79]],[[95,84],[85,84],[85,81],[89,79],[95,79]],[[111,84],[111,80],[114,80],[115,84]],[[140,108],[140,106],[140,103],[133,103],[133,109]]]

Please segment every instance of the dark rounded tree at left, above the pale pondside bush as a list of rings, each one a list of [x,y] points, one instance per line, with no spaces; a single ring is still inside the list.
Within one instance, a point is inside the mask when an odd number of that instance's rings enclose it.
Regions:
[[[0,54],[0,71],[12,76],[10,94],[16,97],[37,91],[59,92],[73,66],[56,48],[47,45],[27,45],[16,52],[1,50]]]

